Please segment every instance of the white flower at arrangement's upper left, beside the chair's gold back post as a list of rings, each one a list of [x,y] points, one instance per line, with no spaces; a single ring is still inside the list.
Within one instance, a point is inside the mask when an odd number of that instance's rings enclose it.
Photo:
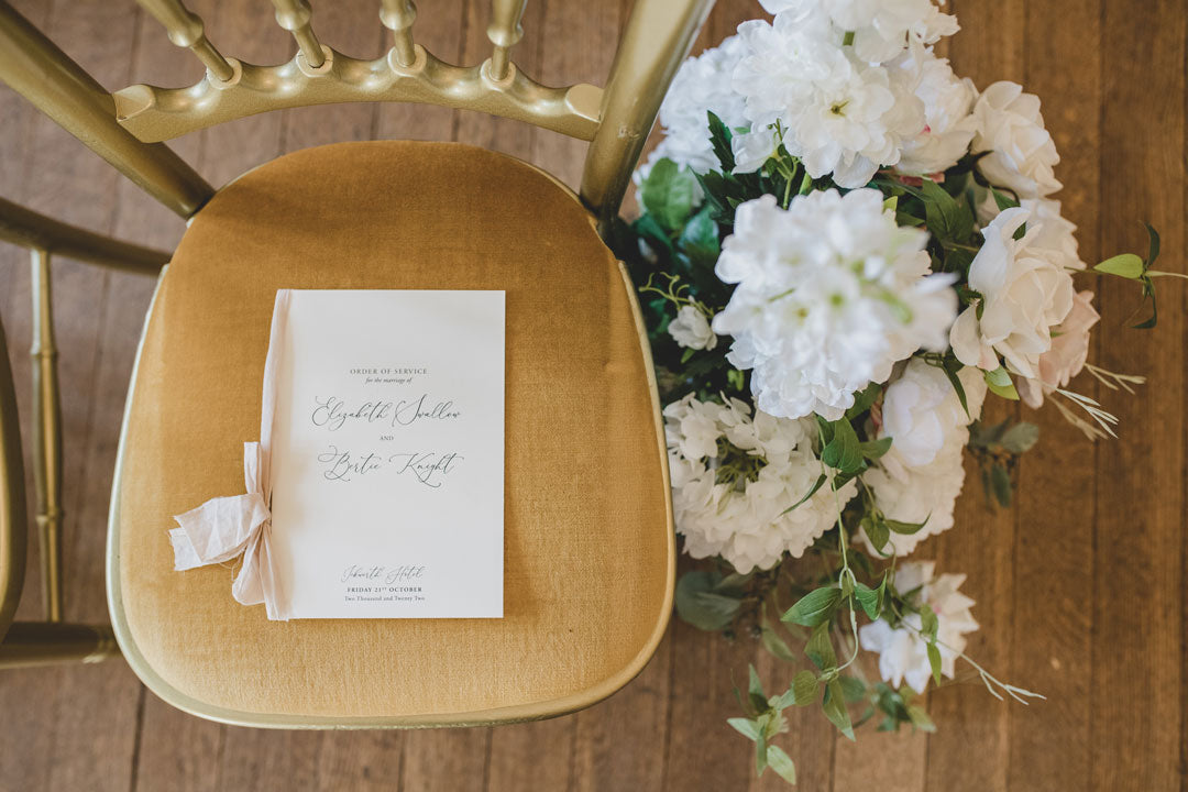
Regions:
[[[747,125],[742,96],[732,88],[734,66],[742,55],[742,39],[731,36],[681,64],[661,104],[664,138],[636,172],[637,184],[663,158],[697,173],[721,167],[709,141],[707,114],[712,110],[728,128]]]

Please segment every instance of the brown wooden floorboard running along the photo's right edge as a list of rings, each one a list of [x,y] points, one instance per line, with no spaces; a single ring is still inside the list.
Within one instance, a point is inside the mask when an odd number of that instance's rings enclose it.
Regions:
[[[1148,220],[1184,272],[1184,8],[1108,0],[1102,50],[1102,254],[1146,249]],[[1173,285],[1175,284],[1175,285]],[[1108,317],[1102,366],[1146,374],[1137,399],[1112,401],[1123,441],[1097,461],[1091,769],[1095,790],[1180,788],[1184,724],[1184,285],[1163,279],[1163,311],[1139,335],[1118,324],[1135,305],[1124,283],[1101,284]]]

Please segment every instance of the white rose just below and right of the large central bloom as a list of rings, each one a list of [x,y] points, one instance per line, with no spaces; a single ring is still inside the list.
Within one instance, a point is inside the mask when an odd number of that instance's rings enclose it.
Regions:
[[[969,414],[944,373],[918,357],[887,386],[878,437],[890,437],[891,449],[862,474],[883,513],[901,522],[923,522],[916,533],[891,533],[884,553],[911,553],[924,539],[953,527],[953,509],[965,484],[962,454],[969,443],[968,425],[981,414],[986,381],[977,368],[958,374]],[[866,533],[858,539],[876,555]]]

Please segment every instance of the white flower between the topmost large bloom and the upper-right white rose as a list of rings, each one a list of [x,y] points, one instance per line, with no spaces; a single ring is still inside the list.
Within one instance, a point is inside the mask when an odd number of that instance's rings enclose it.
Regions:
[[[924,129],[903,146],[896,170],[908,176],[946,171],[969,151],[977,131],[971,114],[977,91],[968,80],[959,80],[949,62],[928,52],[921,66],[916,96],[924,102]]]

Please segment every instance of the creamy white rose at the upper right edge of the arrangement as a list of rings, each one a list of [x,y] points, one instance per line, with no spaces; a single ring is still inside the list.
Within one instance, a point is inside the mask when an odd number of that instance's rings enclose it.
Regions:
[[[971,150],[990,152],[978,160],[978,170],[991,184],[1019,198],[1044,197],[1061,188],[1053,173],[1060,154],[1044,129],[1038,96],[1024,94],[1017,83],[996,82],[978,97],[973,114],[978,132]]]

